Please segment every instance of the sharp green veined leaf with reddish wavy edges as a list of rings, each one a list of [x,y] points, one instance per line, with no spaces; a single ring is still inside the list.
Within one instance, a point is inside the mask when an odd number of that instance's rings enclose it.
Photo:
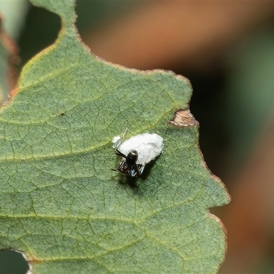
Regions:
[[[32,3],[63,27],[1,108],[0,249],[25,253],[33,273],[216,273],[226,237],[208,208],[229,196],[199,151],[188,81],[95,58],[73,1]],[[127,124],[127,138],[164,138],[137,179],[111,171],[112,137]]]

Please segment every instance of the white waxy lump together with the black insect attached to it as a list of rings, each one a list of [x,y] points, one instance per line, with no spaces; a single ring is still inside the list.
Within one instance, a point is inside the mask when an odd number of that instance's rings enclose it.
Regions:
[[[124,136],[125,133],[112,139],[115,153],[123,158],[118,168],[113,170],[132,177],[141,175],[145,165],[162,152],[163,138],[158,134],[144,133],[124,141]]]

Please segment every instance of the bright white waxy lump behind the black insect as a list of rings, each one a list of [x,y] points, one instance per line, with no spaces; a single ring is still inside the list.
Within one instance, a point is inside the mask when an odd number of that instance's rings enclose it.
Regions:
[[[137,164],[147,164],[154,160],[162,151],[163,138],[158,134],[138,134],[128,140],[123,141],[119,136],[112,139],[114,147],[121,153],[127,155],[130,151],[138,152]]]

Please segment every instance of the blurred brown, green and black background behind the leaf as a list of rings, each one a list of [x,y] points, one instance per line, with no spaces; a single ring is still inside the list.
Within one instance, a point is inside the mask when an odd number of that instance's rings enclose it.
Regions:
[[[274,273],[274,2],[90,0],[76,10],[79,34],[99,57],[190,79],[201,151],[232,195],[211,210],[227,228],[220,272]],[[0,12],[12,89],[25,62],[54,42],[60,19],[27,1],[1,1]],[[25,273],[26,264],[6,260],[14,253],[0,252],[0,273]]]

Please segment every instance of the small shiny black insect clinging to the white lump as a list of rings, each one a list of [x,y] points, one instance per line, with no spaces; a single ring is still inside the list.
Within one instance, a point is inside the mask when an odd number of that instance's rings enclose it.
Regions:
[[[112,169],[113,171],[120,171],[121,173],[132,177],[142,174],[142,171],[145,169],[145,164],[137,164],[138,152],[136,150],[132,150],[125,155],[116,149],[115,153],[124,159],[121,160],[117,169]]]

